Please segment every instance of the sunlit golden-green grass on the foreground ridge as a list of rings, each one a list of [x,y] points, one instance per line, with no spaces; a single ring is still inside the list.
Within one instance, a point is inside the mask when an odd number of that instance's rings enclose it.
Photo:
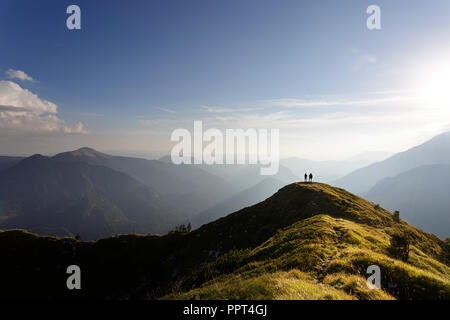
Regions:
[[[406,228],[411,227],[406,225]],[[243,292],[248,293],[247,299],[260,292],[276,298],[284,291],[279,292],[269,279],[278,278],[280,272],[285,275],[296,271],[304,274],[303,282],[309,279],[309,285],[317,285],[321,290],[335,289],[340,297],[345,293],[353,299],[450,298],[450,268],[422,251],[428,236],[419,233],[418,247],[412,246],[410,259],[404,263],[388,256],[392,229],[373,228],[327,215],[314,216],[278,231],[253,250],[231,251],[221,256],[186,279],[184,289],[194,289],[185,292],[182,289],[164,298],[241,299]],[[428,254],[438,254],[439,245],[429,242]],[[370,290],[366,284],[367,267],[373,264],[381,268],[383,290]],[[250,287],[246,290],[239,287],[245,287],[245,283],[255,285],[256,291],[252,293]],[[234,296],[234,289],[230,288],[236,289]],[[304,297],[309,299],[313,295]]]

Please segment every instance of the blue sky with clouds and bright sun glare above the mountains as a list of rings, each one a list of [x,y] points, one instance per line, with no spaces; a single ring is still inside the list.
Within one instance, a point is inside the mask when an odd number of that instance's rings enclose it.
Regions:
[[[450,130],[447,0],[2,0],[0,45],[2,155],[153,157],[195,120],[315,160]]]

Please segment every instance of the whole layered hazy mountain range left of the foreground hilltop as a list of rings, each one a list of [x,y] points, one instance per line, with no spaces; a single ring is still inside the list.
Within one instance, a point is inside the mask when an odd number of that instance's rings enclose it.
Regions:
[[[205,168],[112,156],[86,147],[51,157],[0,157],[0,226],[79,234],[83,239],[133,231],[167,233],[226,201],[234,204],[224,209],[237,210],[277,190],[255,188],[253,197],[238,197],[264,179],[259,166],[232,167],[232,174],[224,177]],[[284,184],[297,180],[286,168],[275,177]],[[195,221],[206,223],[227,213]]]

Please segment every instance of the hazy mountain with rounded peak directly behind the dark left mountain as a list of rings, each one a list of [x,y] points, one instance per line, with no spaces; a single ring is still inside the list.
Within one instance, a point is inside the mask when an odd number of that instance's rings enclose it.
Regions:
[[[112,156],[91,148],[63,152],[53,159],[105,166],[126,173],[158,192],[167,202],[182,208],[186,219],[234,192],[227,181],[194,165]]]

